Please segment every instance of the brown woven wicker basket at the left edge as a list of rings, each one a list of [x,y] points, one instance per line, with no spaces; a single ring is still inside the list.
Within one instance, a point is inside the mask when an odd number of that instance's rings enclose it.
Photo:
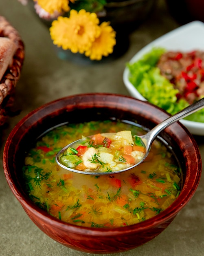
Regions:
[[[24,43],[18,31],[2,16],[0,16],[0,37],[11,39],[17,46],[13,61],[0,80],[0,126],[2,126],[7,121],[7,117],[12,115],[15,87],[24,61]]]

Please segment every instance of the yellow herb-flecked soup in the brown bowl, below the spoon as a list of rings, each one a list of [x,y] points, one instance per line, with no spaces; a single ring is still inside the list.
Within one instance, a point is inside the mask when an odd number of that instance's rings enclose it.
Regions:
[[[180,193],[182,173],[171,151],[155,140],[149,156],[123,173],[85,175],[61,168],[56,153],[81,135],[144,130],[132,124],[91,121],[53,128],[25,158],[23,175],[31,200],[59,220],[84,227],[124,227],[167,209]]]

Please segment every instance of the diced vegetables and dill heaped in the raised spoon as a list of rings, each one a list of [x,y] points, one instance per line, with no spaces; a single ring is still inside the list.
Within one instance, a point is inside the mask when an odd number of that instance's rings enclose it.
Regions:
[[[142,139],[132,135],[130,130],[82,136],[71,146],[59,154],[60,163],[90,173],[125,170],[140,162],[146,151]]]

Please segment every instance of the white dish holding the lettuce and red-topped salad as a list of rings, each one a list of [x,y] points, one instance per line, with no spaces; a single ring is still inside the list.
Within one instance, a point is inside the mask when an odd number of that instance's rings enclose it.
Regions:
[[[201,21],[193,21],[152,41],[139,52],[137,52],[129,63],[134,63],[142,58],[146,53],[150,52],[153,47],[163,47],[167,50],[188,52],[196,49],[204,50],[204,23]],[[123,72],[123,82],[132,97],[147,101],[136,90],[134,85],[129,81],[129,69],[125,68]],[[204,135],[204,123],[180,120],[193,135]]]

